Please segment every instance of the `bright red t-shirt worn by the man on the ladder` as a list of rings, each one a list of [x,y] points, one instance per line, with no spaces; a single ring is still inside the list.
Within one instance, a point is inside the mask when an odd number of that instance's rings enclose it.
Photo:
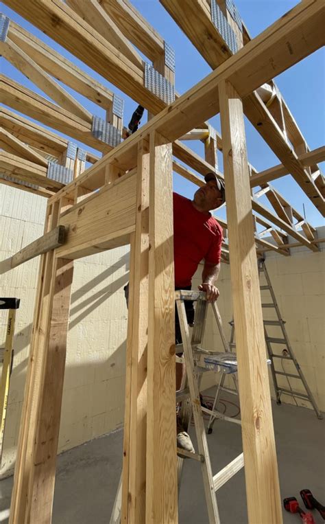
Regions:
[[[201,260],[219,264],[222,228],[217,220],[197,211],[189,198],[173,193],[175,286],[191,286]]]

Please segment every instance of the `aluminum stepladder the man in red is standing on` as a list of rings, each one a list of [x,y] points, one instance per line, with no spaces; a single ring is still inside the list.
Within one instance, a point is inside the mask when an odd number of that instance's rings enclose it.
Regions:
[[[233,422],[234,424],[241,424],[241,421],[235,418],[230,418],[216,409],[203,407],[200,402],[200,380],[204,372],[213,369],[215,372],[222,373],[221,378],[225,376],[225,374],[231,374],[234,380],[234,387],[237,389],[237,380],[234,375],[237,371],[237,361],[235,354],[229,352],[229,346],[224,337],[217,304],[215,302],[208,303],[206,301],[206,295],[203,292],[176,291],[175,297],[178,317],[180,320],[180,330],[182,333],[182,344],[176,346],[176,352],[179,351],[180,346],[182,346],[184,352],[182,357],[176,358],[176,362],[184,363],[186,369],[181,389],[176,393],[176,400],[182,400],[182,407],[179,416],[181,418],[182,426],[186,431],[189,429],[189,424],[191,423],[193,415],[198,448],[198,453],[186,453],[178,448],[178,455],[193,458],[201,462],[204,492],[208,510],[208,521],[210,524],[219,524],[220,519],[215,492],[221,488],[221,486],[224,486],[224,483],[231,479],[243,467],[243,453],[238,455],[238,457],[230,462],[230,464],[227,464],[227,466],[225,466],[221,471],[217,472],[216,475],[213,475],[203,413],[208,413],[210,419],[213,420],[218,418],[228,420],[228,422]],[[189,325],[186,319],[184,306],[185,300],[196,301],[192,336],[190,335]],[[213,308],[221,341],[224,346],[224,352],[210,352],[201,347],[208,304]],[[202,366],[201,363],[202,358],[204,360],[204,366]],[[182,464],[183,459],[178,458],[178,488],[180,488]]]

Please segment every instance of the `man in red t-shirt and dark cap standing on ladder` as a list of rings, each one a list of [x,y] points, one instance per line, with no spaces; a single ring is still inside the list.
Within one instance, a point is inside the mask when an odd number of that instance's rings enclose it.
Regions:
[[[204,260],[200,291],[206,291],[206,298],[215,301],[219,291],[215,286],[220,271],[222,228],[210,214],[212,209],[222,205],[225,198],[224,181],[214,173],[204,176],[206,184],[194,194],[193,200],[173,193],[173,247],[175,266],[175,289],[191,289],[191,282],[197,266]],[[128,285],[125,286],[128,301]],[[186,300],[186,317],[193,323],[193,302]],[[182,343],[178,314],[175,314],[176,344]],[[176,389],[180,389],[183,366],[176,364]],[[189,435],[178,424],[178,446],[194,452]]]

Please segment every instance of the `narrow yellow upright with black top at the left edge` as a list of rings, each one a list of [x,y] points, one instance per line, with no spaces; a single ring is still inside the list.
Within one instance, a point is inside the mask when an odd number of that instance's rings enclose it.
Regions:
[[[5,419],[8,408],[10,376],[12,373],[12,365],[14,363],[14,322],[16,319],[16,310],[19,308],[19,303],[20,299],[18,298],[0,298],[0,309],[8,309],[7,329],[5,332],[5,347],[0,348],[0,363],[2,363],[0,380],[0,465],[3,452],[3,438],[5,435]]]

